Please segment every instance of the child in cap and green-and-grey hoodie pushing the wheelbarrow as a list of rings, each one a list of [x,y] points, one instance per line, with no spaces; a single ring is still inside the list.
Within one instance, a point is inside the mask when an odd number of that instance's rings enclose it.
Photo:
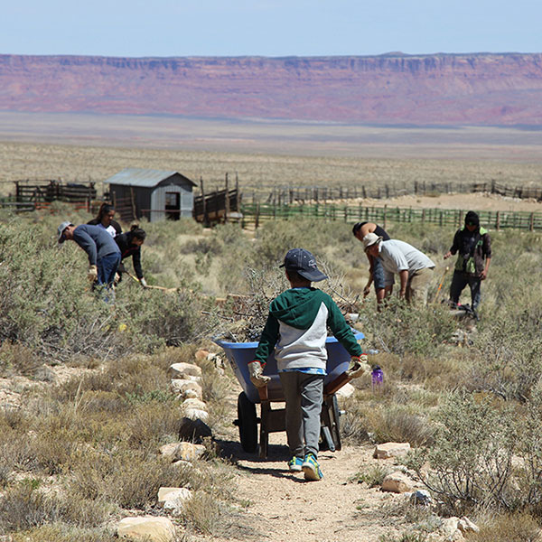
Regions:
[[[286,435],[292,454],[288,468],[291,472],[303,471],[305,480],[321,480],[317,458],[327,327],[352,356],[351,378],[370,368],[360,360],[361,347],[339,307],[330,295],[312,287],[312,282],[328,278],[316,266],[313,255],[304,248],[292,248],[281,267],[285,267],[291,288],[271,302],[248,372],[257,388],[266,386],[270,378],[263,374],[263,369],[274,350],[285,394]]]

